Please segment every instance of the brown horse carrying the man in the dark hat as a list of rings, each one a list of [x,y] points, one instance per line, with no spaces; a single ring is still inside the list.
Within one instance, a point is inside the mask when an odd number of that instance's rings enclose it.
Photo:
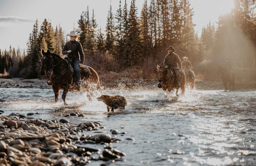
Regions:
[[[180,76],[180,87],[174,86],[174,73],[170,69],[165,69],[164,66],[157,65],[157,73],[158,73],[158,81],[161,83],[163,90],[167,90],[171,92],[174,88],[176,89],[176,95],[178,95],[179,88],[181,89],[181,93],[185,93],[185,83],[186,77],[185,73],[181,70]]]

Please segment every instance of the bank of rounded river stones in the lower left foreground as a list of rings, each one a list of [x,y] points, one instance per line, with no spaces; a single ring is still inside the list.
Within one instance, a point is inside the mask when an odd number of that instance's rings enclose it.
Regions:
[[[98,122],[70,124],[68,118],[43,120],[33,114],[0,115],[0,166],[82,166],[115,162],[125,155],[112,147],[121,141],[116,130],[108,134]],[[66,117],[79,115],[83,116],[76,112]]]

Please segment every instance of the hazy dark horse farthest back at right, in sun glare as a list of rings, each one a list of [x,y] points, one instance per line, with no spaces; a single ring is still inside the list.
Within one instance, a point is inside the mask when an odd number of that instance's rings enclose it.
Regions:
[[[224,84],[225,90],[228,90],[230,88],[230,85],[235,88],[235,74],[232,71],[232,78],[227,69],[224,67],[219,66],[218,67],[218,75],[221,75],[222,82]],[[229,87],[227,88],[227,85],[229,84]]]

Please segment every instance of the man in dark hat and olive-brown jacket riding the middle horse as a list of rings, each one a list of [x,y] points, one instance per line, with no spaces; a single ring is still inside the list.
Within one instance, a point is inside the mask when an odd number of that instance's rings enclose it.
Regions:
[[[170,46],[166,50],[168,51],[168,54],[164,58],[164,67],[166,69],[167,68],[172,69],[172,71],[175,74],[175,86],[180,87],[180,72],[179,72],[179,70],[181,70],[181,67],[182,67],[180,57],[174,53],[175,49],[173,49],[172,46]],[[178,67],[178,65],[179,65],[179,67]],[[157,87],[161,88],[162,86],[159,83]]]

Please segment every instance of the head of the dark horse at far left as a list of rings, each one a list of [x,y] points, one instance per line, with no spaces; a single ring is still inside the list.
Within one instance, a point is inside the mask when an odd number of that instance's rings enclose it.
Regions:
[[[47,71],[51,68],[52,66],[52,55],[49,49],[47,49],[47,52],[44,52],[44,49],[42,49],[42,58],[41,58],[41,69],[40,69],[40,74],[41,76],[46,75]]]

